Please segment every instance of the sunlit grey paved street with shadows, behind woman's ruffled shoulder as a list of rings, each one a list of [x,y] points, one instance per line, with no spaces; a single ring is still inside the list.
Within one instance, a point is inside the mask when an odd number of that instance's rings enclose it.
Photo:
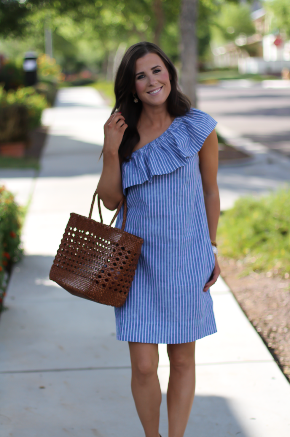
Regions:
[[[290,88],[200,86],[198,98],[221,125],[290,157]]]

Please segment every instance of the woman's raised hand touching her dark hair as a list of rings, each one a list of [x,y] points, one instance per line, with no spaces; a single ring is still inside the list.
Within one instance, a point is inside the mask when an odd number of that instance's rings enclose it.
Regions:
[[[118,153],[121,141],[128,125],[121,112],[112,114],[104,125],[104,153]]]

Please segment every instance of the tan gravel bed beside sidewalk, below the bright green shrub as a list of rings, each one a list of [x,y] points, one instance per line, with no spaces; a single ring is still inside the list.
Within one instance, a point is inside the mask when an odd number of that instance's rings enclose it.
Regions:
[[[219,257],[221,275],[290,382],[290,279],[243,276],[241,261]]]

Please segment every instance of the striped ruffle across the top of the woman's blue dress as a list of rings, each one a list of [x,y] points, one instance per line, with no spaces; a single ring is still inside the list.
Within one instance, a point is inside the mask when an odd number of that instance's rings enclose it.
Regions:
[[[152,182],[153,176],[172,173],[186,165],[186,158],[201,149],[217,122],[199,109],[191,108],[176,117],[158,138],[132,153],[122,164],[123,191],[133,185]]]

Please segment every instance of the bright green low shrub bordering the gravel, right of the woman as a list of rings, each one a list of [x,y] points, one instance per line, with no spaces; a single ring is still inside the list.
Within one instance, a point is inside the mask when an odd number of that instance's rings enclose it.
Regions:
[[[243,259],[253,270],[290,272],[290,189],[255,199],[240,198],[221,215],[221,254]]]

